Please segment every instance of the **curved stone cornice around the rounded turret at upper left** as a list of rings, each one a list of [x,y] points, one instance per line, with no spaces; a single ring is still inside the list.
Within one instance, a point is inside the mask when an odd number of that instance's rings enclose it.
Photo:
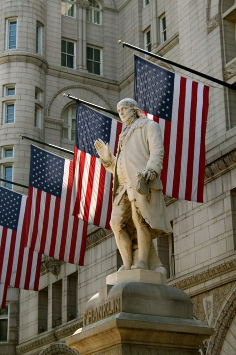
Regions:
[[[42,68],[45,73],[48,71],[47,61],[38,54],[16,50],[0,54],[0,64],[12,61],[23,61],[25,63],[35,64]]]

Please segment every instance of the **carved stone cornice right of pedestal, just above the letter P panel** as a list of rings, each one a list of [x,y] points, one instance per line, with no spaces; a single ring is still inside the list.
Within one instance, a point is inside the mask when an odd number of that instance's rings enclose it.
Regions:
[[[192,275],[187,277],[186,279],[177,281],[177,282],[170,282],[169,285],[176,287],[177,289],[186,290],[193,286],[200,285],[206,281],[215,279],[220,275],[224,275],[229,271],[236,270],[236,259],[227,261],[221,265],[209,268],[206,271],[203,271],[199,274]]]

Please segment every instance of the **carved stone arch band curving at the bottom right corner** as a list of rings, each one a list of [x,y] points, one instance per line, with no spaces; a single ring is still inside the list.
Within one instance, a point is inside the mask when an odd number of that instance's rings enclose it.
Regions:
[[[227,285],[226,285],[227,286]],[[221,312],[216,319],[215,332],[210,338],[206,355],[220,355],[226,334],[236,316],[236,286],[225,300]]]

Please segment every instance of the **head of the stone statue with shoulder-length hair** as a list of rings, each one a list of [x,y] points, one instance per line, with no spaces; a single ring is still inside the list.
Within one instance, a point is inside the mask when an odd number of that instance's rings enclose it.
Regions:
[[[143,116],[142,111],[138,108],[137,102],[130,98],[119,101],[117,110],[121,121],[126,125],[129,125],[135,119]]]

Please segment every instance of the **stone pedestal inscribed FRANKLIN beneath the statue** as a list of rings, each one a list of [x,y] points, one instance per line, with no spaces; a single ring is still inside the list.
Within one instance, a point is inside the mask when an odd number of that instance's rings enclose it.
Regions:
[[[130,273],[138,281],[129,281]],[[194,320],[184,292],[153,273],[131,270],[108,276],[112,284],[89,300],[84,327],[66,339],[67,345],[80,355],[198,355],[213,329]]]

